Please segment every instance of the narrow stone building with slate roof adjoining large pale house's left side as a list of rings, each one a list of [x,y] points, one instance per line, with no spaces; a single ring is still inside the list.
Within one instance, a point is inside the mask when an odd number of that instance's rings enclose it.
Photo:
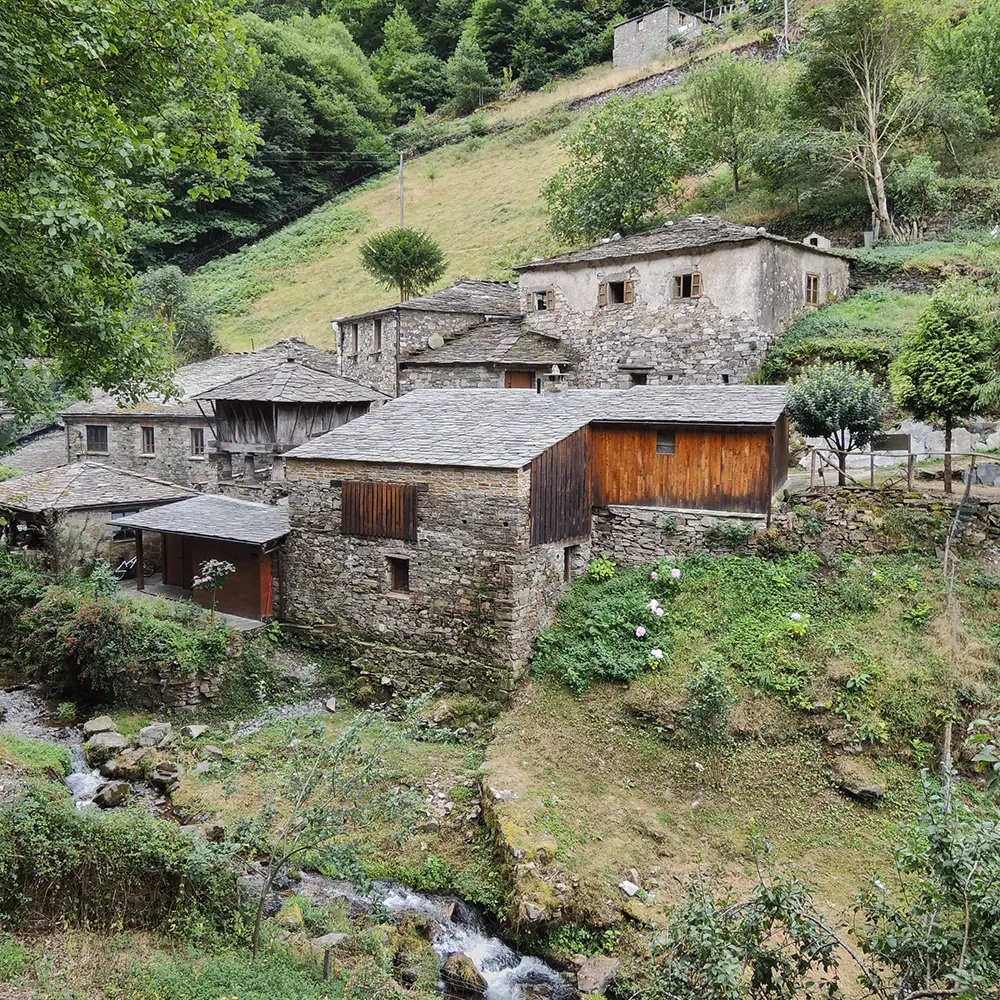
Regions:
[[[406,302],[333,321],[340,373],[390,396],[401,391],[399,364],[465,330],[520,315],[514,285],[465,279]],[[402,390],[405,391],[405,390]]]

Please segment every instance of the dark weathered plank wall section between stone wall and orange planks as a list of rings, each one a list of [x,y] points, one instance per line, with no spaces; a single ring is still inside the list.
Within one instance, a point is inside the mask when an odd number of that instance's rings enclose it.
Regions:
[[[531,463],[531,544],[590,534],[587,428]]]

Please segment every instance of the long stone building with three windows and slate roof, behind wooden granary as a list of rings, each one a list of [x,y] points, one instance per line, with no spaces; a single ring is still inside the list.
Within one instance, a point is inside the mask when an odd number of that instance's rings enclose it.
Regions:
[[[95,392],[63,413],[66,461],[102,462],[195,489],[215,489],[218,471],[210,459],[216,451],[211,411],[195,397],[289,357],[308,361],[313,368],[337,371],[335,355],[296,337],[256,353],[220,354],[185,365],[174,376],[176,399],[119,404],[107,393]]]

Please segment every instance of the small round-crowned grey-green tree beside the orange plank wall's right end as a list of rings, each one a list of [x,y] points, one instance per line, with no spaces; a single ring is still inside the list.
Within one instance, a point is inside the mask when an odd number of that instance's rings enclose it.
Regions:
[[[788,395],[788,416],[806,437],[821,437],[837,453],[838,482],[846,481],[847,455],[881,430],[889,401],[868,372],[846,362],[804,371]]]

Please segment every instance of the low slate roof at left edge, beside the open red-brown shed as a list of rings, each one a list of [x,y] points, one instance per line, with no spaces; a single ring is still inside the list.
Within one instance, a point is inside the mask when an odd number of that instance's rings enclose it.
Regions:
[[[75,462],[0,483],[0,507],[40,514],[86,507],[160,504],[192,496],[191,490],[99,462]]]

